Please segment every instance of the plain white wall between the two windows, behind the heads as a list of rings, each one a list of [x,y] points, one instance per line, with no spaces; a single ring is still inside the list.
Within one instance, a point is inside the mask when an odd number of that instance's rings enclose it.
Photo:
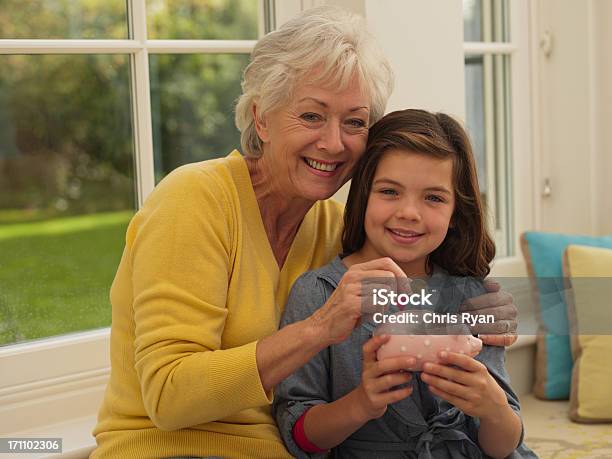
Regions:
[[[334,0],[365,16],[395,72],[387,111],[423,108],[465,119],[463,7],[459,0]],[[334,196],[344,202],[348,184]]]

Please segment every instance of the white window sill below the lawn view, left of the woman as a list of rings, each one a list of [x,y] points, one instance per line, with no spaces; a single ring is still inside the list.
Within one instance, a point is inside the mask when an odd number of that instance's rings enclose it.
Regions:
[[[95,414],[109,376],[108,341],[105,329],[0,349],[0,436]]]

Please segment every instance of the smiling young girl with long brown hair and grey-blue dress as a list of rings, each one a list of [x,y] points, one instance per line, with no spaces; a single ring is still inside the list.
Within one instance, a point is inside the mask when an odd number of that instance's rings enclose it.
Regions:
[[[296,281],[281,326],[310,316],[345,273],[381,257],[429,291],[453,291],[439,294],[436,312],[457,312],[484,292],[495,247],[468,137],[451,117],[403,110],[372,126],[344,220],[343,254]],[[484,346],[475,358],[441,352],[438,364],[410,373],[413,358],[376,360],[389,336],[371,338],[375,327],[363,320],[277,386],[273,412],[293,455],[536,457],[522,443],[504,348]]]

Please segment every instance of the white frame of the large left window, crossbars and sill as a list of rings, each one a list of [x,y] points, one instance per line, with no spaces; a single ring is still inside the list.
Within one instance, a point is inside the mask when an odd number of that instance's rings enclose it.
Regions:
[[[270,27],[264,18],[274,2],[258,1],[261,35]],[[127,18],[129,39],[0,39],[0,54],[131,57],[134,169],[140,207],[155,186],[149,55],[249,54],[256,40],[149,40],[146,0],[127,0]],[[109,348],[109,328],[0,347],[0,437],[95,415],[110,374]]]

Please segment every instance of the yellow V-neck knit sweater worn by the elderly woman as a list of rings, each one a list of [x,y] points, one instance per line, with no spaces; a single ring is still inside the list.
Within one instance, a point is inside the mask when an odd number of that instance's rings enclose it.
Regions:
[[[282,268],[242,156],[183,166],[132,219],[111,288],[111,376],[92,458],[286,458],[255,359],[289,289],[339,251],[316,203]]]

